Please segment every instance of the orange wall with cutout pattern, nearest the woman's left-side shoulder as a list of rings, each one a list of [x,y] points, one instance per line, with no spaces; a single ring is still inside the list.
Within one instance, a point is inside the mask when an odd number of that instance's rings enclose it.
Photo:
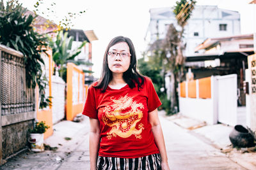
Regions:
[[[80,89],[80,86],[78,91],[83,90],[83,103],[78,103],[78,104],[73,104],[72,103],[72,76],[73,76],[73,72],[76,71],[77,73],[79,73],[79,76],[83,76],[83,88]],[[79,82],[79,76],[78,76],[78,82]],[[79,99],[79,95],[78,95],[78,99]],[[68,63],[67,64],[67,112],[66,112],[66,117],[67,120],[73,120],[74,117],[76,117],[76,115],[78,113],[81,113],[83,111],[83,106],[84,106],[84,101],[85,101],[85,96],[84,96],[84,73],[81,69],[79,69],[76,64],[73,63]]]

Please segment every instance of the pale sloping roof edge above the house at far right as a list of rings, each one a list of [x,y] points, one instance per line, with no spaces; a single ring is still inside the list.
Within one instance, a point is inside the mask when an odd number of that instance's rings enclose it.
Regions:
[[[237,36],[227,36],[227,37],[220,37],[220,38],[207,38],[203,43],[196,46],[195,52],[198,50],[202,50],[212,46],[220,41],[231,41],[234,39],[246,39],[246,38],[253,38],[253,34],[244,34],[244,35],[237,35]]]

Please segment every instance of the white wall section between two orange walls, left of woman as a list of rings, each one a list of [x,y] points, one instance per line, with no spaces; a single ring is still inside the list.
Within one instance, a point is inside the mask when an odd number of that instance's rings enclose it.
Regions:
[[[52,124],[65,118],[65,81],[52,76]]]

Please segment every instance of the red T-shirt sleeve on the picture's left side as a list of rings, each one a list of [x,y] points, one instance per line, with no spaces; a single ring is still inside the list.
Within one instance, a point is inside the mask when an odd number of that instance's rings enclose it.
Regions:
[[[98,119],[98,113],[95,102],[95,89],[94,87],[92,87],[92,85],[88,88],[88,93],[82,114],[90,118]]]

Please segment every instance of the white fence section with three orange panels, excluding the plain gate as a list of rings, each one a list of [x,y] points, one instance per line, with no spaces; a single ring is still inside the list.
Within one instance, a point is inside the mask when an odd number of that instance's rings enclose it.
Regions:
[[[214,77],[184,81],[179,84],[180,112],[188,117],[204,120],[208,124],[217,123],[214,106]]]

